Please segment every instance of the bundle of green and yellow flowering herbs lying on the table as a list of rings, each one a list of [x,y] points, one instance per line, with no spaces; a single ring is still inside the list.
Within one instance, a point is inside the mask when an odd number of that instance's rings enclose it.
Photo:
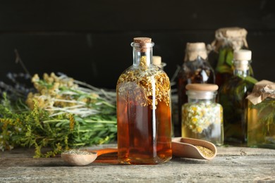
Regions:
[[[0,149],[35,147],[35,157],[116,139],[115,92],[66,75],[32,77],[37,92],[27,99],[4,93],[0,103]],[[44,151],[44,147],[47,150]],[[50,148],[50,149],[49,149]]]

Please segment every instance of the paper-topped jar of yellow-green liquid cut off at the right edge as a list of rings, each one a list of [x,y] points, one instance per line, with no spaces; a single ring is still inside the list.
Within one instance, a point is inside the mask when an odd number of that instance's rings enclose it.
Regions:
[[[246,99],[247,146],[275,149],[275,82],[257,82]]]

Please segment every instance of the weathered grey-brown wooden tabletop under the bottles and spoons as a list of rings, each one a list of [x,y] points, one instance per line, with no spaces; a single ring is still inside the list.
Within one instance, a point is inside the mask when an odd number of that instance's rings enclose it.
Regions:
[[[275,182],[274,149],[217,149],[213,160],[173,157],[161,165],[118,165],[102,159],[82,167],[60,156],[32,158],[33,149],[13,149],[0,152],[0,182]]]

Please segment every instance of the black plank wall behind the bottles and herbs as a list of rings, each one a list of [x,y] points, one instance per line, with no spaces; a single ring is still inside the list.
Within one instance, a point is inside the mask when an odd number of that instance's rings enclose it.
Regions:
[[[23,72],[63,72],[114,89],[133,63],[133,37],[152,37],[169,77],[187,42],[214,40],[220,27],[244,27],[258,80],[274,81],[274,0],[10,0],[0,2],[0,80]]]

